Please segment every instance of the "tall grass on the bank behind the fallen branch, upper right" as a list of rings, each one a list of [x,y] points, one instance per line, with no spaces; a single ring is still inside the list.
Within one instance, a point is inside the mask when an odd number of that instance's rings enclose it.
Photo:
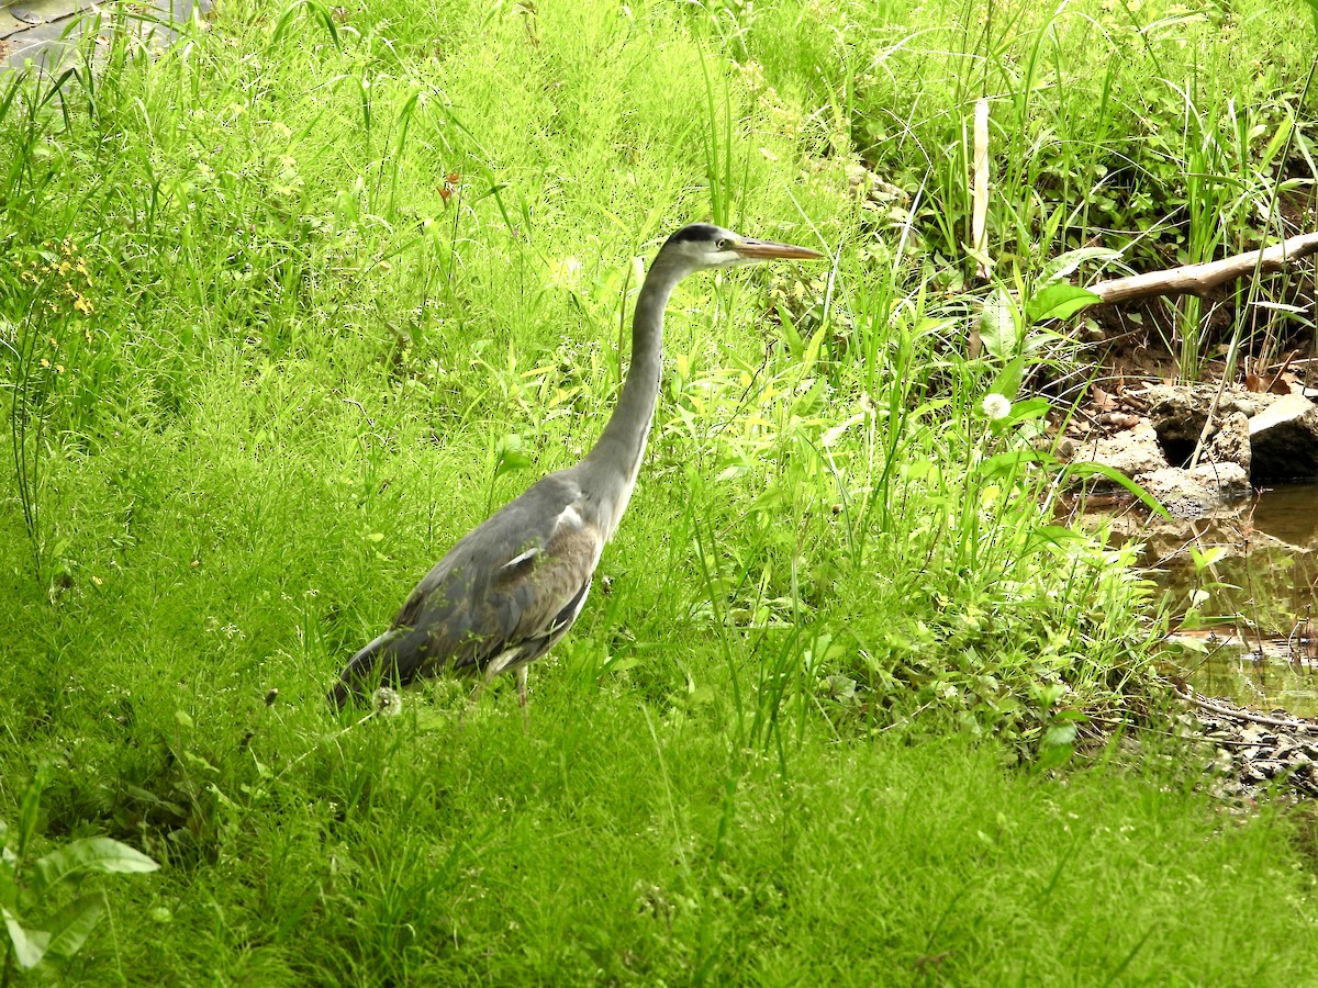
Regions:
[[[963,245],[969,121],[981,97],[995,188],[987,254],[1007,270],[1101,245],[1143,271],[1311,228],[1313,38],[1297,29],[1300,4],[735,9],[767,83],[820,105],[816,153],[854,153],[873,173],[862,177],[867,227],[887,240],[909,225],[908,242],[940,287],[973,285],[979,261]],[[779,43],[788,30],[808,41]],[[886,244],[865,248],[890,257]],[[1302,277],[1272,278],[1206,302],[1156,300],[1103,328],[1147,332],[1186,379],[1220,356],[1230,374],[1244,354],[1280,360],[1311,341],[1309,321],[1285,308],[1310,294]]]

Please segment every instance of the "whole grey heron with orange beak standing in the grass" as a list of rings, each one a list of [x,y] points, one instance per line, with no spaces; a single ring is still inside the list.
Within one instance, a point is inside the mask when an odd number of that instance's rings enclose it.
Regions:
[[[349,660],[330,694],[337,706],[381,678],[407,684],[467,673],[489,681],[509,671],[526,703],[526,667],[581,613],[600,553],[631,498],[659,397],[668,296],[693,271],[774,257],[818,254],[705,224],[668,238],[637,299],[631,366],[594,448],[490,515],[435,564],[393,627]]]

